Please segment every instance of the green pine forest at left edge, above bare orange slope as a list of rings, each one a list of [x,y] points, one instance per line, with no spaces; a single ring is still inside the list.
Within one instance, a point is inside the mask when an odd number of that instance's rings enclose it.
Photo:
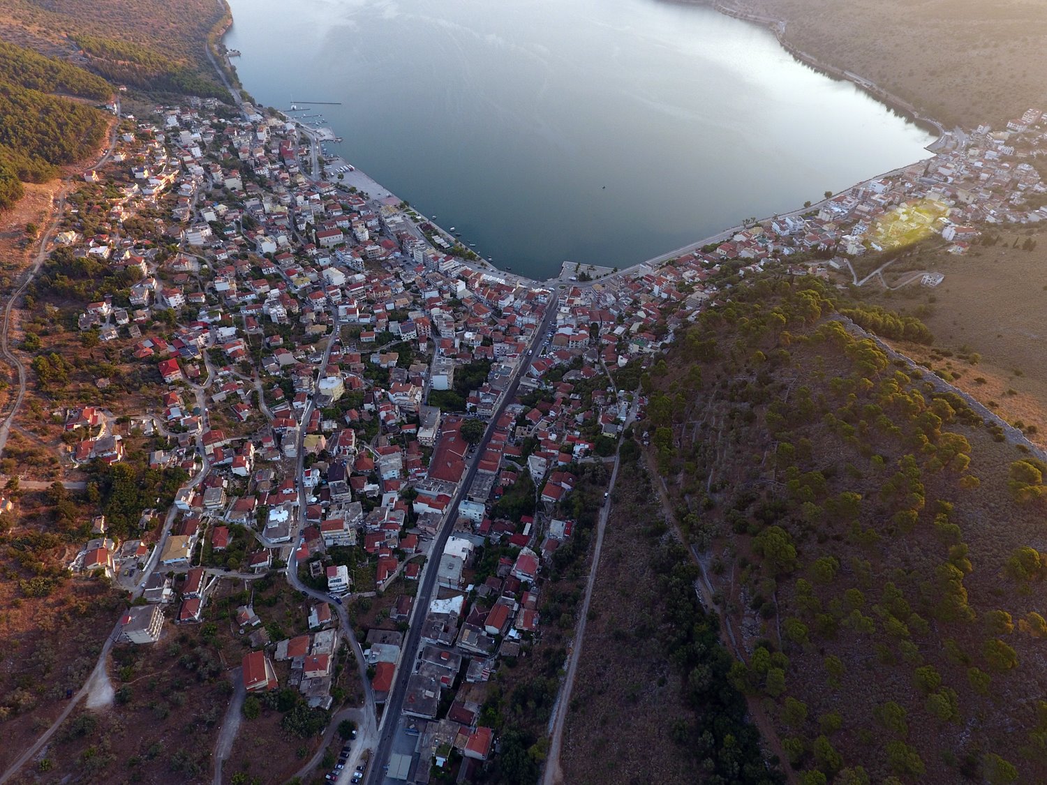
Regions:
[[[21,198],[21,181],[54,177],[58,166],[86,157],[105,135],[104,113],[50,92],[112,94],[82,68],[0,43],[0,209]]]

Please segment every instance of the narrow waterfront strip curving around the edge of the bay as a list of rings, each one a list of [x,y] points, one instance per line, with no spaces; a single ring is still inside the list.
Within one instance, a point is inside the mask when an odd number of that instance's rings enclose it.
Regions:
[[[685,0],[685,2],[687,0]],[[240,81],[240,76],[237,73],[236,67],[232,66],[232,64],[228,62],[228,59],[225,58],[225,54],[224,54],[224,51],[227,50],[227,48],[228,48],[225,45],[224,39],[225,39],[225,36],[228,33],[228,31],[232,28],[233,21],[235,21],[233,17],[232,17],[232,10],[231,10],[231,7],[225,2],[225,0],[218,0],[218,2],[219,2],[220,5],[222,5],[224,8],[226,8],[228,10],[229,18],[228,18],[228,24],[225,25],[225,27],[222,30],[221,35],[218,36],[218,37],[216,37],[216,43],[221,45],[223,51],[222,52],[216,51],[215,54],[221,55],[221,58],[223,60],[225,60],[226,63],[228,63],[228,70],[230,72],[229,75],[232,76],[237,81],[237,83],[240,85],[240,87],[243,89],[243,83]],[[713,2],[711,4],[710,3],[706,3],[706,2],[699,2],[699,3],[695,3],[695,4],[708,5],[709,7],[712,7],[712,9],[715,10],[716,13],[718,13],[718,14],[722,14],[723,16],[728,16],[728,17],[732,17],[734,19],[738,19],[739,21],[742,21],[742,22],[751,22],[753,24],[759,24],[759,25],[763,25],[763,26],[770,27],[771,30],[772,30],[772,32],[775,36],[775,39],[778,41],[779,46],[781,46],[786,52],[788,52],[790,55],[793,55],[793,58],[795,60],[797,60],[798,62],[802,63],[803,65],[806,65],[808,68],[811,68],[811,69],[818,71],[819,73],[822,73],[823,75],[828,76],[829,78],[832,78],[834,81],[841,81],[841,82],[849,82],[849,83],[851,83],[852,85],[854,85],[855,87],[857,87],[861,90],[863,90],[864,92],[866,92],[874,100],[878,102],[879,104],[882,104],[884,107],[886,107],[890,111],[895,112],[895,113],[897,113],[899,115],[903,115],[909,121],[913,122],[917,127],[923,128],[923,130],[928,130],[928,127],[934,128],[934,130],[938,133],[938,138],[935,141],[931,142],[930,144],[927,144],[923,148],[929,153],[931,153],[931,156],[929,156],[929,157],[934,157],[935,155],[937,155],[938,152],[940,152],[941,150],[945,149],[948,147],[948,144],[949,144],[949,140],[952,139],[952,137],[953,137],[953,132],[952,131],[946,131],[945,128],[944,128],[944,126],[942,126],[938,120],[934,119],[933,117],[927,117],[927,116],[921,115],[914,106],[912,106],[908,102],[904,100],[903,98],[900,98],[900,97],[898,97],[898,96],[896,96],[896,95],[888,92],[887,90],[884,90],[883,88],[881,88],[875,83],[873,83],[873,82],[871,82],[869,80],[866,80],[865,77],[860,76],[856,73],[852,73],[851,71],[847,71],[845,69],[839,68],[837,66],[833,66],[833,65],[830,65],[830,64],[827,64],[827,63],[822,63],[821,61],[819,61],[814,55],[808,54],[807,52],[802,51],[801,49],[797,48],[796,46],[794,46],[793,44],[790,44],[789,42],[787,42],[785,40],[785,38],[784,38],[785,26],[787,24],[786,20],[774,19],[772,17],[762,17],[762,16],[759,16],[759,15],[750,14],[748,12],[739,10],[737,8],[732,8],[731,6],[723,4],[719,0],[713,0]],[[210,52],[211,47],[208,45],[207,49],[208,49],[208,52]],[[217,62],[215,62],[215,60],[213,60],[213,64],[215,65],[216,70],[219,71],[219,75],[223,77],[223,82],[224,82],[225,81],[225,78],[224,78],[225,74],[222,72],[222,68],[218,65]],[[237,99],[237,102],[239,104],[241,102],[239,93],[237,91],[232,91],[232,94],[233,94],[235,99]],[[332,140],[333,138],[335,138],[337,136],[337,134],[334,132],[334,130],[332,128],[330,128],[330,127],[314,128],[312,126],[308,126],[308,125],[302,122],[300,120],[298,120],[298,119],[296,119],[294,117],[290,117],[284,110],[276,110],[276,111],[279,112],[279,114],[280,114],[281,117],[283,117],[287,121],[293,122],[295,125],[295,127],[299,129],[299,131],[302,133],[305,133],[307,136],[309,136],[310,142],[312,144],[314,144],[314,145],[319,144],[321,140]],[[316,135],[315,138],[314,138],[313,134]],[[344,163],[349,163],[348,161],[344,160],[344,158],[341,158],[340,156],[338,156],[338,158],[341,161],[343,161]],[[920,161],[925,161],[925,160],[928,160],[928,158],[918,158],[918,159],[916,159],[914,161],[910,161],[909,163],[906,163],[906,164],[904,164],[901,166],[897,166],[897,167],[895,167],[893,170],[890,170],[888,172],[884,172],[884,173],[871,175],[871,176],[865,178],[865,180],[860,180],[859,182],[865,182],[867,180],[875,180],[875,179],[884,178],[884,177],[892,177],[892,176],[895,176],[898,173],[903,172],[904,170],[908,169],[909,166],[912,166],[912,165],[914,165],[916,163],[919,163]],[[314,176],[317,173],[314,173]],[[319,174],[322,175],[322,173],[319,173]],[[392,190],[389,190],[387,187],[385,187],[380,182],[378,182],[378,180],[374,179],[373,177],[371,177],[370,175],[367,175],[366,173],[364,173],[363,171],[361,171],[359,167],[355,166],[355,164],[354,164],[354,171],[351,174],[358,175],[359,178],[362,181],[366,181],[366,182],[370,182],[370,183],[373,183],[374,185],[376,185],[378,188],[380,188],[382,192],[384,192],[386,194],[386,198],[396,199],[398,203],[399,202],[404,202],[406,204],[409,204],[409,202],[406,202],[406,200],[403,200],[401,197],[393,194]],[[319,177],[318,179],[324,179],[324,178]],[[801,216],[803,214],[809,212],[811,210],[817,211],[823,204],[825,204],[826,202],[832,200],[833,198],[836,198],[840,194],[843,194],[843,193],[846,193],[846,192],[850,190],[857,183],[852,183],[851,185],[848,185],[846,188],[833,193],[828,198],[821,199],[821,200],[819,200],[817,202],[812,201],[809,206],[798,207],[798,208],[794,208],[794,209],[790,209],[790,210],[782,210],[780,212],[775,212],[772,216],[767,216],[765,218],[757,219],[755,221],[755,223],[751,223],[748,226],[752,227],[754,225],[759,225],[759,224],[764,223],[765,221],[774,220],[775,218],[797,217],[797,216]],[[428,219],[426,216],[424,216],[422,212],[420,212],[416,207],[411,206],[410,209],[414,210],[415,212],[417,212],[419,216],[421,216],[424,221],[428,222],[435,229],[437,229],[448,241],[450,241],[451,243],[461,244],[460,241],[456,238],[454,238],[451,232],[447,231],[442,226],[438,225],[435,221]],[[734,237],[735,233],[737,233],[739,231],[743,231],[745,228],[748,228],[748,227],[747,226],[733,226],[733,227],[730,227],[730,228],[722,229],[722,230],[716,232],[715,234],[711,234],[711,236],[709,236],[707,238],[704,238],[701,240],[696,240],[696,241],[694,241],[692,243],[688,243],[687,245],[684,245],[684,246],[682,246],[680,248],[676,248],[674,250],[666,251],[666,252],[660,253],[658,255],[650,256],[650,257],[648,257],[648,259],[646,259],[646,260],[644,260],[642,262],[637,262],[636,264],[629,265],[628,267],[623,267],[618,272],[611,273],[610,275],[606,275],[606,276],[601,277],[601,278],[596,278],[593,282],[583,283],[582,286],[594,286],[594,285],[598,285],[598,284],[606,284],[606,283],[608,283],[608,282],[610,282],[610,281],[612,281],[615,278],[623,277],[623,276],[626,276],[626,275],[628,275],[630,273],[637,272],[637,271],[639,271],[643,267],[650,267],[652,269],[656,268],[656,267],[665,264],[666,262],[669,262],[672,259],[676,259],[676,257],[682,256],[682,255],[684,255],[686,253],[690,253],[690,252],[692,252],[694,250],[697,250],[697,249],[701,248],[703,246],[709,245],[710,243],[725,242],[726,240],[730,240],[732,237]],[[468,248],[468,246],[466,246],[466,247]],[[477,253],[476,255],[478,255],[480,259],[481,259],[481,263],[480,264],[477,264],[476,262],[470,262],[469,260],[465,260],[465,259],[462,259],[462,257],[459,257],[459,260],[463,264],[463,266],[465,266],[465,267],[469,267],[469,268],[472,268],[472,269],[478,269],[481,272],[487,272],[489,274],[502,275],[502,276],[506,276],[507,278],[513,278],[513,279],[515,279],[515,281],[517,281],[517,282],[519,282],[520,284],[524,284],[524,285],[555,287],[555,286],[558,286],[558,285],[564,285],[564,284],[569,284],[569,283],[570,284],[574,284],[574,285],[577,285],[577,283],[580,283],[580,282],[565,282],[565,281],[562,279],[563,275],[564,275],[564,269],[565,269],[564,268],[564,263],[561,263],[560,273],[558,275],[553,276],[553,277],[549,277],[549,278],[539,279],[539,278],[533,278],[533,277],[528,276],[528,275],[522,275],[520,273],[517,273],[517,272],[514,272],[514,271],[511,271],[511,270],[506,270],[504,268],[498,267],[493,262],[488,262],[481,254]],[[600,262],[602,263],[602,260]],[[589,265],[601,266],[597,262],[580,262],[580,261],[575,261],[575,262],[572,262],[570,264],[572,264],[574,266],[577,266],[579,268],[580,267],[589,266]]]

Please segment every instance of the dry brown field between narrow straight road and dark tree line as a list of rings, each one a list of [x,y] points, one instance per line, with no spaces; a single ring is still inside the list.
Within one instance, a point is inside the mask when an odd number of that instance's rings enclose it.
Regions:
[[[693,782],[669,728],[688,721],[680,672],[655,634],[658,575],[643,529],[649,486],[620,475],[563,731],[564,782]]]

